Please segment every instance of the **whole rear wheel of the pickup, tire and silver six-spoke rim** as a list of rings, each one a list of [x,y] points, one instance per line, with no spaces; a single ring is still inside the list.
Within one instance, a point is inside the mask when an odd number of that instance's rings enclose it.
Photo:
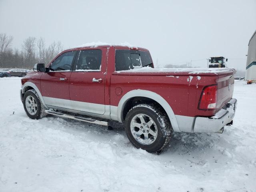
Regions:
[[[172,126],[158,106],[136,105],[129,110],[124,123],[127,137],[136,148],[159,152],[170,141]]]

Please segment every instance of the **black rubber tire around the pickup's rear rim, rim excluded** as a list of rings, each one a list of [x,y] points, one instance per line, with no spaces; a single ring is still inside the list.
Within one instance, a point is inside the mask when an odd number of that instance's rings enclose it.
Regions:
[[[134,138],[135,134],[132,134],[132,121],[138,114],[145,114],[145,117],[150,117],[154,121],[154,129],[157,129],[157,136],[154,138],[151,144],[142,144],[138,141],[138,138]],[[145,121],[146,122],[146,121]],[[142,123],[140,121],[140,123]],[[139,123],[139,124],[140,124]],[[172,125],[167,114],[162,108],[153,104],[139,104],[129,110],[124,120],[126,135],[130,142],[136,147],[146,150],[147,152],[162,152],[164,147],[169,143],[172,134]],[[147,124],[146,124],[147,125]],[[134,126],[133,126],[134,127]],[[136,127],[134,127],[135,129]],[[152,126],[151,126],[152,128]],[[137,129],[137,128],[136,128]],[[139,129],[143,130],[142,127]],[[138,133],[138,132],[137,132]],[[145,132],[143,133],[145,134]],[[138,135],[136,135],[138,136]],[[151,135],[148,134],[148,137]],[[152,136],[151,136],[152,138]],[[143,139],[143,136],[140,136]],[[153,139],[152,139],[153,140]],[[150,142],[151,139],[150,139]]]

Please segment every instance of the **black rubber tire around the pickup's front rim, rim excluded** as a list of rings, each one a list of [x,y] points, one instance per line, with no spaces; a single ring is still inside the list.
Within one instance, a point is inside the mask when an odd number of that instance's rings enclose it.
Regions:
[[[32,96],[34,100],[36,100],[37,108],[36,108],[36,113],[35,114],[30,114],[26,108],[26,98],[28,96]],[[30,89],[27,92],[25,92],[24,97],[23,97],[23,106],[24,110],[26,111],[26,114],[28,115],[29,118],[31,119],[41,119],[45,117],[47,114],[44,112],[44,105],[42,104],[42,101],[37,94],[37,92],[34,89]]]

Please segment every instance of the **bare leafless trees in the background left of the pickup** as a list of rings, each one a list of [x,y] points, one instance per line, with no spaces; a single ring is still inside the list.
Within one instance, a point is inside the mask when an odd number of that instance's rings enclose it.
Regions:
[[[54,56],[63,50],[60,41],[46,46],[44,38],[28,37],[22,43],[22,49],[12,48],[13,36],[0,33],[0,68],[32,69],[36,63],[48,64]]]

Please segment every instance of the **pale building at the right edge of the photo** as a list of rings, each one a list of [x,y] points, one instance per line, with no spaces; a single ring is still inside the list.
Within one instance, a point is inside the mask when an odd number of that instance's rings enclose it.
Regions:
[[[256,31],[252,35],[248,44],[245,79],[256,81]]]

